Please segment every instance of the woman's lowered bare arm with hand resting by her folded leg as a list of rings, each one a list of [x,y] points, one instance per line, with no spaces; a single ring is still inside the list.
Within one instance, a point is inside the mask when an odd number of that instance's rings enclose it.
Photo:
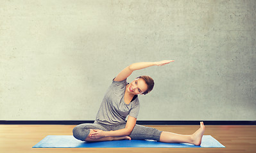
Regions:
[[[136,120],[137,119],[135,117],[128,116],[125,128],[118,129],[116,131],[102,131],[100,129],[94,129],[94,133],[90,135],[90,138],[128,136],[132,133],[132,130],[136,124]]]

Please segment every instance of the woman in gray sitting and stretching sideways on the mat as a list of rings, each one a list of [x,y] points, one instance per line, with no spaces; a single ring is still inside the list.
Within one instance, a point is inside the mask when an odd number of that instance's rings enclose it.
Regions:
[[[136,124],[139,113],[138,94],[147,94],[153,89],[153,79],[141,76],[131,84],[126,82],[133,71],[148,68],[149,66],[163,66],[173,61],[138,62],[131,64],[113,79],[101,103],[94,124],[80,124],[73,129],[73,136],[86,142],[110,140],[157,140],[166,143],[201,144],[205,131],[203,122],[200,129],[192,135],[178,135],[166,131],[159,131]],[[126,117],[127,121],[125,122]]]

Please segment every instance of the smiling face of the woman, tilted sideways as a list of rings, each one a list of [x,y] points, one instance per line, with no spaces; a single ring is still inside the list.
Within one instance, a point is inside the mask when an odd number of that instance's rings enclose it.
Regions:
[[[137,78],[128,84],[126,90],[130,94],[143,94],[143,92],[148,90],[148,85],[142,78]]]

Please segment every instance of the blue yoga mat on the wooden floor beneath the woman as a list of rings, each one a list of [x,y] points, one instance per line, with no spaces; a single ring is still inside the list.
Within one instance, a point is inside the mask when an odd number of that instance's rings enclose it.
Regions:
[[[225,147],[210,135],[204,135],[200,146],[189,143],[163,143],[154,140],[118,140],[109,142],[82,142],[72,135],[49,135],[32,148],[120,148],[120,147]]]

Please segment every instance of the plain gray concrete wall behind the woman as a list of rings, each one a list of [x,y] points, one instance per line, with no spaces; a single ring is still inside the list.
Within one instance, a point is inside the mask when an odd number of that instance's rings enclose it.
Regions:
[[[112,78],[138,120],[256,120],[255,1],[0,1],[0,120],[94,120]]]

